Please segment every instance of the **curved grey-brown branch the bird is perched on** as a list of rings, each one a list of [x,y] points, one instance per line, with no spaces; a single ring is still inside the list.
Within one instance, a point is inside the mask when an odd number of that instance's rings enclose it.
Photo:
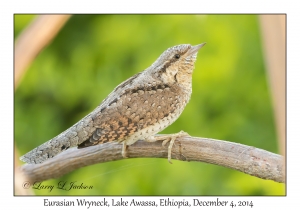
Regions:
[[[168,148],[161,141],[137,141],[127,148],[129,158],[167,158]],[[83,149],[71,148],[41,164],[19,168],[31,183],[58,178],[75,169],[114,160],[122,160],[122,144],[106,143]],[[285,183],[284,158],[262,149],[238,143],[199,137],[178,137],[172,158],[225,166],[262,179]]]

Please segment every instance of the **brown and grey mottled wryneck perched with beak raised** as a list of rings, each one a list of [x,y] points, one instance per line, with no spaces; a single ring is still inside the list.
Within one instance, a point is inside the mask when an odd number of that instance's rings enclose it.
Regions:
[[[126,147],[137,140],[153,142],[166,139],[154,135],[171,125],[181,115],[192,93],[192,73],[197,53],[206,43],[180,44],[165,50],[144,71],[118,85],[92,112],[76,124],[29,151],[20,160],[28,164],[43,163],[70,147],[85,148],[107,142]],[[170,135],[168,160],[179,132]]]

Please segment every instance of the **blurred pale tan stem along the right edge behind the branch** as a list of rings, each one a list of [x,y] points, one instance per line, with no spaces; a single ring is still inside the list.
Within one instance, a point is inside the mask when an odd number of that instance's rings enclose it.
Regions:
[[[262,47],[270,94],[273,100],[280,153],[285,155],[286,137],[286,15],[259,15]]]

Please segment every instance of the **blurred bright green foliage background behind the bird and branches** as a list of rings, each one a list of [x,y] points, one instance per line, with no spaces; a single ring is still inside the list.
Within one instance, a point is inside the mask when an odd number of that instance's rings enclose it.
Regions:
[[[15,40],[35,18],[15,15]],[[167,48],[206,42],[193,94],[162,133],[223,139],[279,153],[256,15],[74,15],[34,60],[15,92],[20,155],[91,112],[119,83]],[[57,180],[92,190],[38,195],[284,195],[285,185],[199,162],[126,159],[92,165]]]

